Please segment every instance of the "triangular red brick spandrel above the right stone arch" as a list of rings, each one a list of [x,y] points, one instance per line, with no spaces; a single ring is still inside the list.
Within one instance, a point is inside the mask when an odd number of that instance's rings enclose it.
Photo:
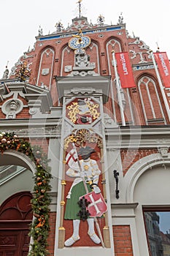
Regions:
[[[123,175],[125,176],[125,173],[127,173],[131,165],[134,165],[134,163],[137,162],[139,159],[156,153],[158,153],[157,149],[121,150],[120,154],[122,159]]]

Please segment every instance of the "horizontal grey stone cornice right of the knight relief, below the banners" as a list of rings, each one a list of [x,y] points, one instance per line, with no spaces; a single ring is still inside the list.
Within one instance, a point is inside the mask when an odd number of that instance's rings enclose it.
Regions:
[[[105,129],[107,149],[159,148],[170,145],[170,126],[119,127]]]

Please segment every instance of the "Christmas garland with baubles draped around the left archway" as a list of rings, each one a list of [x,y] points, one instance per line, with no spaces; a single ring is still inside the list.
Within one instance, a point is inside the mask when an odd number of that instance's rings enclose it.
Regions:
[[[12,149],[26,154],[36,165],[34,175],[34,197],[31,206],[34,211],[34,221],[30,227],[29,236],[33,239],[31,250],[28,256],[46,256],[47,237],[50,230],[49,211],[50,211],[50,167],[47,155],[42,152],[39,146],[31,147],[27,140],[19,139],[14,132],[0,132],[0,152]]]

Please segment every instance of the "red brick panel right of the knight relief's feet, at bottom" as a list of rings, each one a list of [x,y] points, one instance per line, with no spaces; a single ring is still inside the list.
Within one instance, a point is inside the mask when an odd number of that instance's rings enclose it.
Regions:
[[[113,226],[115,256],[133,256],[131,230],[129,225]]]

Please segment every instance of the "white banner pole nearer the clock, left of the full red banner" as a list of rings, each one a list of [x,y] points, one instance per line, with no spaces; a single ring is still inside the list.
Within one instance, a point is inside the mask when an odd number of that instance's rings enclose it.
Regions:
[[[117,67],[116,67],[116,59],[115,59],[115,50],[112,50],[112,60],[113,60],[113,67],[115,69],[115,79],[116,79],[116,88],[117,88],[117,98],[118,98],[118,103],[120,107],[120,116],[122,120],[122,125],[125,127],[125,116],[124,116],[124,111],[123,111],[123,103],[122,103],[122,98],[120,94],[120,85],[119,85],[119,78],[117,74]]]

